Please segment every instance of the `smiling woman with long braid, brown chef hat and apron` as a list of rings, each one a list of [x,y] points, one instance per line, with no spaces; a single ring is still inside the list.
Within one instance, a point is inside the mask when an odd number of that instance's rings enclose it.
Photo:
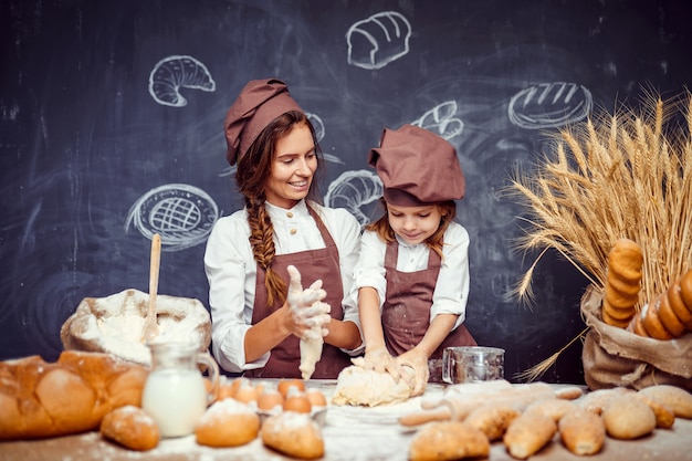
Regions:
[[[335,379],[361,345],[350,296],[358,221],[317,203],[324,160],[284,82],[248,83],[224,128],[245,207],[219,219],[207,242],[212,353],[227,371],[301,377],[300,339],[317,326],[324,347],[312,377]]]

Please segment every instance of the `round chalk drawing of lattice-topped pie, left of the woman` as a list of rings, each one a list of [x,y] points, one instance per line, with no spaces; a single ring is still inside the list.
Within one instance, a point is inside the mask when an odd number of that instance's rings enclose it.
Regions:
[[[161,250],[179,251],[207,241],[219,218],[213,199],[186,184],[168,184],[149,190],[129,209],[125,232],[133,224],[144,237],[161,235]]]

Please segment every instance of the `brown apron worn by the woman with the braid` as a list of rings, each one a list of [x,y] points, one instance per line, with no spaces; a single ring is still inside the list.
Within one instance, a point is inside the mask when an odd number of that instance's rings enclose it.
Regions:
[[[279,254],[274,258],[272,270],[285,280],[287,284],[290,277],[286,268],[291,264],[295,265],[301,272],[303,287],[310,286],[317,279],[322,279],[323,287],[327,292],[327,296],[323,301],[332,306],[329,312],[332,317],[340,321],[344,317],[344,310],[342,308],[344,287],[342,286],[338,249],[319,217],[311,207],[307,207],[307,209],[319,229],[326,248]],[[265,271],[258,265],[254,307],[252,311],[253,325],[282,306],[280,302],[275,302],[272,307],[266,305],[264,276]],[[290,335],[271,350],[269,362],[263,368],[248,370],[244,373],[244,376],[253,378],[301,378],[300,364],[300,339],[294,335]],[[312,378],[336,379],[339,371],[348,365],[350,365],[350,358],[347,354],[325,343],[322,349],[322,358],[315,365]]]

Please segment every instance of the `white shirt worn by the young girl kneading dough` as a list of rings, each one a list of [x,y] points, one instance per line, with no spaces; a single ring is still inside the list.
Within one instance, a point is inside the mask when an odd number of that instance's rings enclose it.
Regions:
[[[409,244],[397,235],[399,258],[397,270],[400,272],[416,272],[428,268],[430,249],[424,243]],[[385,251],[387,244],[375,231],[365,231],[360,239],[360,256],[354,270],[355,283],[352,296],[357,297],[358,290],[370,286],[379,295],[379,310],[382,311],[387,293],[385,277]],[[454,314],[459,317],[454,328],[465,318],[466,302],[469,298],[469,232],[458,222],[452,222],[444,232],[442,247],[442,265],[438,282],[432,294],[430,321],[438,314]]]

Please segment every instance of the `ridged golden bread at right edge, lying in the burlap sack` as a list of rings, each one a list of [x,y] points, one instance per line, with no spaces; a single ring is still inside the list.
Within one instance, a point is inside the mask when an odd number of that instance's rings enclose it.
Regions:
[[[644,305],[628,326],[633,333],[656,339],[672,339],[692,331],[692,270],[689,270]]]

